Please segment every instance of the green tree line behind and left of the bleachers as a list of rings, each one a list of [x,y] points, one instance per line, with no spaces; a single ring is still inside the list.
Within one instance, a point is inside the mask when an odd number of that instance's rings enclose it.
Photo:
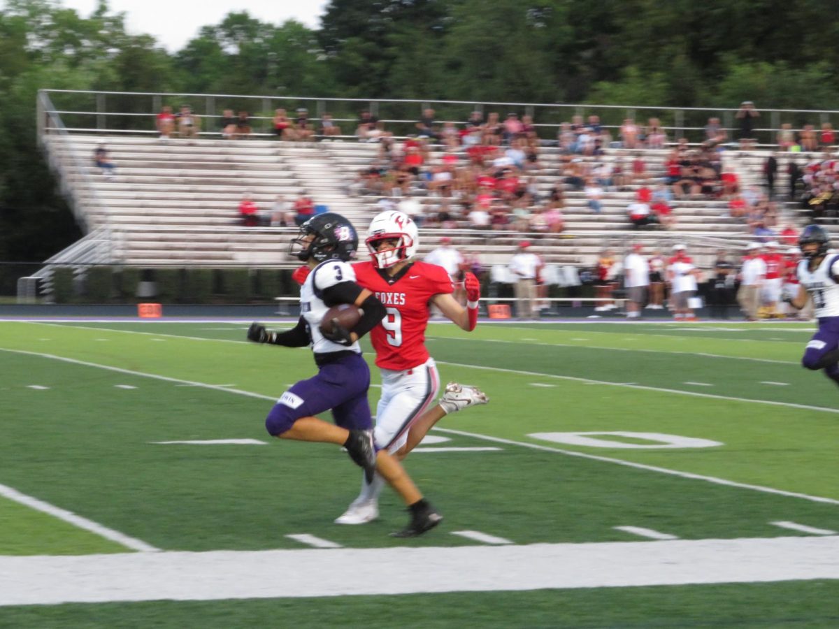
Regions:
[[[320,29],[234,11],[169,53],[105,0],[6,0],[0,261],[80,237],[36,145],[41,88],[833,109],[837,36],[834,0],[331,0]]]

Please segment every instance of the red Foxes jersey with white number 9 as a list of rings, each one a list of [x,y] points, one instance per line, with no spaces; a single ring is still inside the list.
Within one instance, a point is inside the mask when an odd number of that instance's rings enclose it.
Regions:
[[[425,328],[430,317],[430,300],[436,294],[454,291],[446,269],[415,262],[402,269],[391,283],[382,277],[373,262],[356,263],[352,268],[359,286],[373,291],[388,311],[381,323],[370,330],[376,365],[398,372],[422,365],[429,358]]]

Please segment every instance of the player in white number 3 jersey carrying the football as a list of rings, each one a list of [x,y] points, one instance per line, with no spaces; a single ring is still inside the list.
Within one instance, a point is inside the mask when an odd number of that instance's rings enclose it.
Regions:
[[[423,498],[399,460],[373,444],[373,418],[367,403],[370,369],[358,339],[382,320],[385,309],[371,291],[355,281],[349,261],[357,247],[355,228],[339,214],[327,212],[300,226],[300,234],[289,246],[289,253],[310,268],[300,289],[300,320],[284,332],[268,331],[254,323],[248,329],[248,340],[311,346],[318,372],[280,396],[265,419],[268,433],[280,439],[343,445],[364,468],[366,478],[372,480],[378,471],[402,496],[411,519],[407,527],[392,534],[413,537],[435,527],[442,516]],[[363,311],[361,320],[352,330],[333,323],[332,330],[321,331],[320,321],[337,304],[355,304]],[[315,417],[327,410],[331,410],[335,425]]]

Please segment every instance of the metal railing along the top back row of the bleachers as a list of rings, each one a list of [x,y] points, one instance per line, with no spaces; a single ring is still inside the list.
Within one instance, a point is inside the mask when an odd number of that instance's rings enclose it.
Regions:
[[[310,120],[320,120],[326,112],[333,114],[336,123],[351,123],[352,128],[345,128],[344,136],[355,133],[354,123],[361,110],[368,110],[380,122],[392,129],[397,135],[415,132],[414,123],[426,108],[435,110],[435,118],[440,122],[466,122],[470,112],[486,114],[496,111],[501,114],[501,121],[506,116],[505,110],[518,112],[520,115],[534,117],[534,126],[543,139],[555,139],[562,122],[571,122],[573,116],[597,115],[602,126],[612,131],[617,130],[625,118],[636,119],[639,126],[641,119],[659,118],[662,128],[670,139],[685,137],[691,143],[704,140],[704,127],[708,118],[717,117],[729,138],[737,132],[737,107],[653,107],[642,105],[597,105],[592,103],[532,103],[510,101],[431,101],[419,99],[362,99],[362,98],[325,98],[316,96],[243,96],[236,94],[194,94],[186,92],[123,92],[123,91],[75,91],[42,90],[41,93],[55,96],[64,106],[54,109],[55,114],[69,117],[67,128],[73,131],[92,133],[156,133],[154,117],[164,104],[175,108],[181,104],[192,107],[199,117],[216,119],[223,109],[248,111],[253,122],[254,134],[273,135],[271,125],[274,110],[284,108],[289,117],[300,107],[310,112]],[[87,103],[87,104],[86,104]],[[777,133],[784,122],[789,122],[794,129],[806,123],[819,125],[823,122],[839,121],[839,111],[763,109],[758,110],[758,127],[753,130],[759,146],[775,146]],[[203,135],[220,135],[218,128],[205,125]]]

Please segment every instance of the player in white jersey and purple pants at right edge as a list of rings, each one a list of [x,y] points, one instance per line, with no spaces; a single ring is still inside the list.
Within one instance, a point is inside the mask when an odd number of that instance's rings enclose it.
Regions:
[[[813,298],[819,329],[807,343],[801,364],[807,369],[824,369],[825,375],[839,384],[839,255],[828,255],[830,238],[817,225],[808,225],[798,239],[803,259],[798,263],[800,288],[795,297],[784,301],[795,309]]]

